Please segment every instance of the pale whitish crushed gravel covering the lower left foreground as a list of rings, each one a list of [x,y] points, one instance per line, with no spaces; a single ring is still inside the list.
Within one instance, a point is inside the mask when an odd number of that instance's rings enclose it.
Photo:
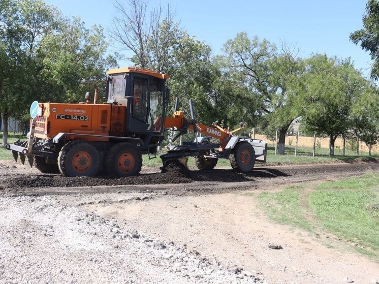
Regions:
[[[0,200],[2,283],[257,283],[173,242],[51,197]]]

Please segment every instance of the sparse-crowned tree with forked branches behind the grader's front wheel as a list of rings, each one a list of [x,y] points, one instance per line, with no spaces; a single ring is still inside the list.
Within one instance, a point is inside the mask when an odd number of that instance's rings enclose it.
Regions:
[[[293,81],[302,72],[302,60],[296,52],[285,44],[280,52],[276,46],[258,37],[248,38],[246,33],[224,45],[229,60],[230,72],[236,73],[239,80],[249,88],[247,104],[257,98],[260,105],[250,115],[259,112],[264,119],[264,128],[279,131],[278,152],[285,153],[286,132],[294,115],[290,97],[295,93],[291,89]],[[247,114],[248,115],[248,114]]]

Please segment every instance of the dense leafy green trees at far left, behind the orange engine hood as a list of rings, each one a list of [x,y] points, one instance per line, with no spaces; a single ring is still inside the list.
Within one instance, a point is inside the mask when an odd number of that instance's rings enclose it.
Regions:
[[[7,143],[8,118],[28,112],[30,103],[78,100],[84,89],[105,79],[114,60],[105,57],[101,27],[62,18],[42,0],[0,2],[0,112]]]

